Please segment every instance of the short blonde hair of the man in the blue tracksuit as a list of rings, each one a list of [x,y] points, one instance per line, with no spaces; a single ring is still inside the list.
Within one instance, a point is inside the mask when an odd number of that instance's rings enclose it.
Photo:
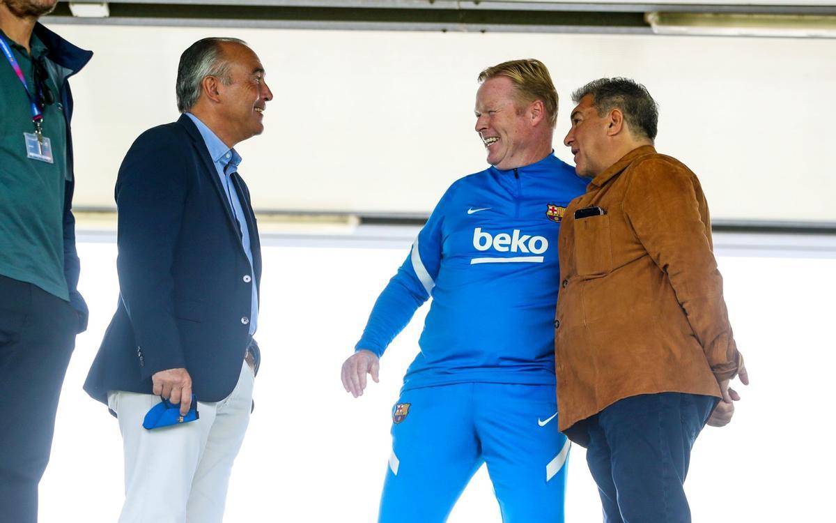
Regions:
[[[521,59],[502,62],[479,73],[479,83],[487,79],[504,76],[517,88],[517,103],[530,104],[541,100],[546,110],[548,124],[554,128],[558,120],[558,91],[554,89],[552,77],[546,66],[537,59]]]

